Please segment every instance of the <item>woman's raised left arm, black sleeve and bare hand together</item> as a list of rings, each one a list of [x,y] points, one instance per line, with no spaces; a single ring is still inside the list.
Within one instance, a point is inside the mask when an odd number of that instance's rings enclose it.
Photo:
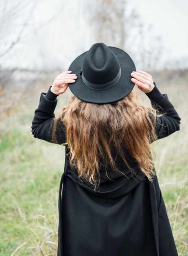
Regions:
[[[58,119],[56,138],[57,142],[52,142],[52,130],[54,126],[54,110],[57,105],[57,96],[66,92],[69,83],[74,83],[76,74],[71,74],[71,70],[59,74],[48,92],[41,92],[39,106],[35,110],[32,121],[31,132],[35,138],[43,139],[51,143],[63,144],[66,142],[66,127]]]

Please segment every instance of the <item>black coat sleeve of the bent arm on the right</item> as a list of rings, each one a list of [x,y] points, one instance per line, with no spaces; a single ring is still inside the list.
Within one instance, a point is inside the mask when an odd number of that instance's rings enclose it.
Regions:
[[[157,117],[156,120],[155,131],[157,134],[157,139],[162,139],[171,135],[173,132],[180,130],[181,118],[179,117],[173,104],[169,101],[167,94],[162,94],[157,88],[155,82],[154,85],[155,87],[153,90],[145,94],[147,97],[149,97],[152,107],[157,108],[160,113],[167,112],[164,116]],[[153,141],[151,141],[151,143]]]

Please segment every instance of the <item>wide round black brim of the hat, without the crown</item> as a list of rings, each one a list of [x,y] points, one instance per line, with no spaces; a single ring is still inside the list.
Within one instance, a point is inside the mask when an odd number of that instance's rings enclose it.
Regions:
[[[82,101],[90,103],[112,103],[127,96],[134,88],[135,83],[131,81],[131,72],[136,71],[136,66],[132,58],[127,52],[120,48],[113,46],[108,47],[118,58],[121,67],[121,77],[118,83],[108,89],[94,90],[83,82],[80,72],[83,58],[88,51],[79,55],[70,64],[68,70],[72,70],[72,74],[76,74],[77,79],[74,83],[69,83],[68,87],[71,92]]]

